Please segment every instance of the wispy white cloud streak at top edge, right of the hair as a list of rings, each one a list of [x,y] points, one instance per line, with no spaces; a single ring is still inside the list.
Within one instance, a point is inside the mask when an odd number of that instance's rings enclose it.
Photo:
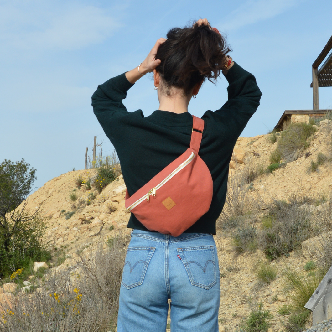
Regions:
[[[235,30],[277,16],[302,0],[249,0],[227,15],[223,30]]]

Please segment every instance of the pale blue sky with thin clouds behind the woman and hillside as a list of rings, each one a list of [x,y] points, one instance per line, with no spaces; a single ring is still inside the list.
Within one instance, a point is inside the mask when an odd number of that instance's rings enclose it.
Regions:
[[[332,35],[331,14],[331,0],[0,0],[0,162],[25,158],[40,187],[84,168],[95,135],[112,154],[92,112],[97,85],[136,67],[171,27],[199,18],[227,36],[263,92],[241,136],[264,134],[285,110],[312,109],[311,64]],[[223,77],[204,83],[189,112],[220,108],[226,88]],[[158,109],[151,76],[124,104],[146,116]],[[332,108],[332,88],[319,89],[319,106]]]

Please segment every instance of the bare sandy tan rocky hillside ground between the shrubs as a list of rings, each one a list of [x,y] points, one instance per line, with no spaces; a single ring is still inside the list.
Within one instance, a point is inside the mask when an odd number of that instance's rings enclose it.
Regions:
[[[243,173],[248,167],[266,168],[276,145],[277,143],[272,142],[271,135],[240,137],[234,149],[229,176],[232,178],[239,172]],[[331,163],[319,166],[318,172],[308,173],[308,169],[320,152],[331,157],[331,148],[331,124],[325,123],[318,127],[310,146],[302,151],[296,161],[250,181],[247,195],[252,197],[252,202],[260,202],[252,204],[252,209],[256,209],[258,215],[263,215],[265,204],[275,199],[287,201],[290,195],[307,195],[317,202],[323,196],[327,197],[332,192]],[[52,252],[56,247],[57,251],[63,250],[65,253],[60,269],[75,269],[74,258],[78,250],[84,252],[88,250],[85,249],[87,246],[90,250],[100,242],[106,247],[108,238],[116,236],[120,229],[129,233],[126,229],[129,213],[124,207],[125,185],[122,175],[100,194],[97,190],[87,190],[85,185],[77,188],[79,177],[91,176],[93,170],[68,172],[48,181],[29,196],[30,210],[41,205],[47,224],[45,243]],[[259,228],[259,220],[257,224]],[[280,315],[277,309],[290,303],[283,290],[283,270],[290,266],[302,271],[305,263],[312,259],[310,252],[297,250],[287,258],[273,261],[272,265],[278,271],[276,280],[270,286],[258,289],[255,287],[253,269],[259,258],[265,259],[264,254],[258,250],[256,253],[244,253],[236,257],[227,233],[219,230],[215,238],[222,275],[220,330],[235,331],[253,305],[262,301],[264,308],[271,310],[274,315],[271,331],[282,331],[285,316]]]

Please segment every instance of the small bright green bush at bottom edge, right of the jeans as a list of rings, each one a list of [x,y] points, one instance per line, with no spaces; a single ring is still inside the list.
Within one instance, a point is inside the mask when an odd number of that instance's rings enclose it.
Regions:
[[[258,304],[258,310],[252,310],[247,320],[241,325],[245,332],[267,332],[273,315],[269,310],[263,310],[262,302]]]

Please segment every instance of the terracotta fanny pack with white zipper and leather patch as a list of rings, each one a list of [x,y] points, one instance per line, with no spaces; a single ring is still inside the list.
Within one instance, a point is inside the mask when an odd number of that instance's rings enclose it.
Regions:
[[[179,236],[205,214],[213,181],[198,155],[204,120],[193,116],[190,147],[129,197],[125,207],[149,230]]]

